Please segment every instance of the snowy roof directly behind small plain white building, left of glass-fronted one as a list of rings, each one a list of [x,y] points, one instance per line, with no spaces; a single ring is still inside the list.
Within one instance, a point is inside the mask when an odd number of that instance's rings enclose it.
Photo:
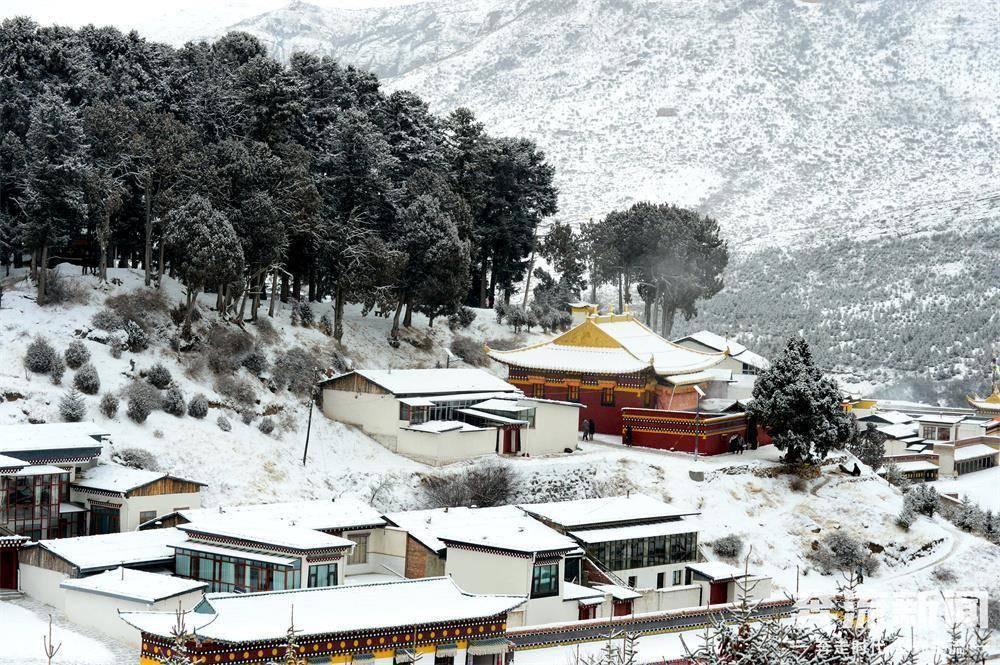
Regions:
[[[180,544],[185,538],[184,532],[178,529],[149,529],[43,540],[39,546],[81,571],[91,571],[169,561],[174,556],[170,546]]]

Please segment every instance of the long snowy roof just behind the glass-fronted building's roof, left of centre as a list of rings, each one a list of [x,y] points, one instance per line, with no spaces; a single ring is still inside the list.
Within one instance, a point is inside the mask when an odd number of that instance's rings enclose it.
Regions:
[[[385,524],[382,514],[351,496],[336,501],[288,501],[245,506],[195,508],[178,511],[189,522],[218,519],[252,520],[259,524],[282,522],[320,531],[343,531]]]

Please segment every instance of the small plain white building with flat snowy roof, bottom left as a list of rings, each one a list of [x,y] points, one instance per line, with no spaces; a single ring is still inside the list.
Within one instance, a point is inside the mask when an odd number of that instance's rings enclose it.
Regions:
[[[130,568],[66,579],[59,586],[67,619],[135,647],[142,644],[139,631],[123,622],[119,612],[190,610],[205,591],[202,582]]]

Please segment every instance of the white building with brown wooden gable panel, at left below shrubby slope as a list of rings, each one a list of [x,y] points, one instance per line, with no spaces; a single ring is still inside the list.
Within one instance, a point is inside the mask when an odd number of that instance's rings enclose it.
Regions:
[[[119,464],[86,469],[70,485],[70,502],[87,514],[87,533],[135,531],[178,510],[199,508],[204,483]]]

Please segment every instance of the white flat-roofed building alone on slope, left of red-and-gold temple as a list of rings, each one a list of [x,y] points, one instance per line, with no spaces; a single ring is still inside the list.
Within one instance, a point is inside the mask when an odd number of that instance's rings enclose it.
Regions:
[[[572,450],[583,408],[526,398],[479,369],[356,370],[320,385],[327,417],[428,464]]]

